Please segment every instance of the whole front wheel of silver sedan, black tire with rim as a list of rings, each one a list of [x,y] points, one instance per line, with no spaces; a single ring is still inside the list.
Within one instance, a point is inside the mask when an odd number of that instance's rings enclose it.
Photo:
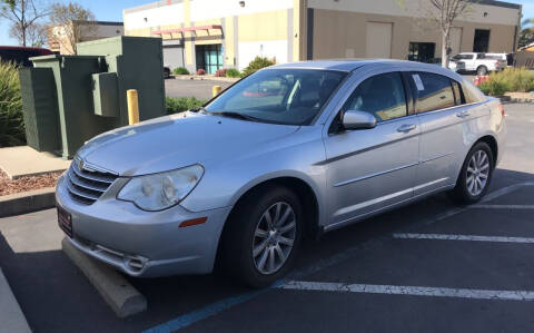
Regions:
[[[278,208],[280,210],[277,213]],[[284,216],[286,221],[268,229],[267,215],[274,224],[277,215],[278,222]],[[219,273],[230,275],[251,287],[268,286],[286,275],[295,263],[303,238],[303,216],[297,195],[286,187],[268,185],[247,195],[236,206],[225,226],[219,247]],[[291,217],[295,224],[289,229]],[[287,231],[284,232],[283,228]],[[290,247],[288,239],[293,241]],[[278,265],[280,266],[277,267]]]

